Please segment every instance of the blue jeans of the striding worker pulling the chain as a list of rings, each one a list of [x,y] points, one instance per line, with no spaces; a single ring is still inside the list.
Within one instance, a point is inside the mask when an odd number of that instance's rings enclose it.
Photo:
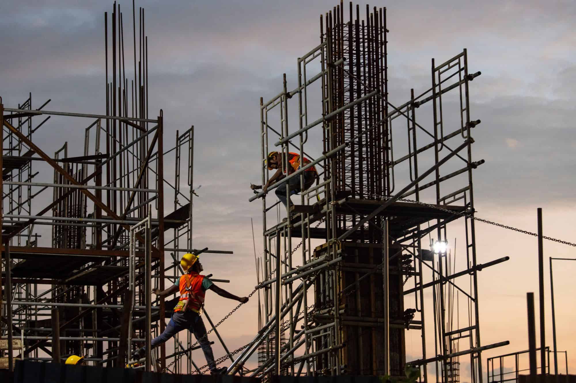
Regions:
[[[210,346],[210,341],[206,334],[206,327],[204,326],[202,317],[194,311],[173,313],[172,319],[170,319],[164,332],[152,340],[152,348],[158,346],[158,344],[166,342],[166,340],[172,338],[182,330],[192,332],[196,339],[198,339],[198,343],[200,344],[200,347],[202,347],[202,351],[204,351],[204,357],[206,357],[206,362],[210,367],[210,371],[214,371],[216,369],[216,363],[214,362],[214,354],[212,353],[212,347]],[[146,348],[142,347],[142,350],[146,350]]]

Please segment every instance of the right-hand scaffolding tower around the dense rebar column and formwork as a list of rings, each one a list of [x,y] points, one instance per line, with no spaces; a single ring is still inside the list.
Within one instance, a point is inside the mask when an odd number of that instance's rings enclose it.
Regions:
[[[508,258],[484,265],[476,261],[472,170],[484,160],[475,162],[472,158],[471,131],[480,120],[471,119],[468,87],[480,72],[468,72],[466,49],[439,65],[432,59],[431,87],[416,97],[412,89],[406,103],[392,105],[388,101],[386,9],[371,10],[366,6],[365,20],[361,20],[359,6],[355,7],[355,15],[353,11],[350,3],[349,21],[345,22],[341,1],[321,16],[320,44],[297,60],[297,87],[289,91],[285,74],[282,91],[267,102],[260,99],[262,161],[269,151],[279,150],[285,175],[267,191],[286,183],[289,200],[293,187],[290,181],[300,178],[300,204],[282,209],[278,202],[268,206],[262,198],[264,252],[259,277],[263,282],[257,287],[264,293],[263,318],[259,318],[263,325],[249,343],[251,347],[240,354],[228,371],[235,373],[260,347],[266,349],[267,358],[259,353],[260,366],[253,376],[268,377],[280,374],[281,369],[296,375],[400,376],[404,366],[410,365],[422,370],[426,382],[427,364],[434,363],[437,381],[456,383],[460,381],[459,358],[469,355],[472,382],[482,383],[482,351],[508,342],[486,346],[480,343],[477,273]],[[314,119],[309,112],[308,94],[314,94],[313,85],[317,82],[322,108],[321,116]],[[460,123],[448,133],[445,129],[453,122],[450,105],[442,99],[450,99],[454,92],[448,92],[455,89]],[[298,125],[289,131],[288,105],[294,95],[298,96],[293,101],[297,104]],[[433,129],[426,129],[422,122],[416,122],[416,110],[430,105],[431,116],[426,119],[431,117]],[[395,151],[393,132],[403,128],[402,124],[392,125],[399,117],[406,121],[407,141],[404,145],[398,143]],[[314,127],[322,130],[320,149],[319,140],[313,141]],[[395,134],[399,140],[399,134],[406,133]],[[269,135],[278,139],[270,139]],[[460,141],[455,142],[457,137]],[[296,139],[297,142],[292,141]],[[275,143],[272,145],[270,140]],[[450,147],[452,142],[454,147]],[[322,155],[312,158],[306,154],[306,143],[308,152],[321,151]],[[290,172],[290,146],[297,148],[300,158],[309,158],[310,163]],[[442,151],[446,155],[441,156]],[[460,161],[465,166],[455,169],[455,163]],[[312,166],[322,168],[323,180],[304,190],[304,172]],[[263,168],[262,185],[269,177]],[[426,178],[432,181],[423,183]],[[465,186],[454,187],[457,180]],[[441,193],[441,185],[448,185],[448,191]],[[428,188],[435,193],[425,197]],[[249,201],[265,194],[255,193]],[[412,195],[414,200],[407,200]],[[462,204],[456,205],[458,201]],[[281,211],[289,218],[268,224],[268,215],[275,213],[279,217]],[[447,242],[448,224],[462,215],[467,262],[463,270],[457,271],[455,256],[446,252],[433,255],[423,248],[427,244],[423,246],[422,242],[433,232],[437,241]],[[297,246],[293,243],[295,238],[302,239]],[[314,248],[318,240],[324,244]],[[293,264],[298,262],[299,256],[294,255],[298,248],[301,266]],[[365,257],[362,248],[369,249],[369,258],[365,258],[369,262],[359,262]],[[469,289],[465,291],[455,279],[467,275]],[[415,288],[403,289],[403,276],[406,281],[414,277]],[[395,281],[399,278],[398,287]],[[379,290],[366,288],[366,284],[377,283],[382,286]],[[432,302],[424,297],[425,289],[430,287]],[[312,293],[314,304],[309,305]],[[351,297],[353,293],[355,297]],[[361,309],[366,296],[373,297],[368,303],[371,313]],[[460,326],[461,297],[468,313],[464,328]],[[408,299],[414,300],[414,309],[404,310]],[[426,357],[426,340],[430,337],[425,331],[425,303],[433,305],[434,348],[438,355],[433,358]],[[422,334],[422,358],[412,362],[406,362],[404,357],[404,331],[409,328]],[[289,334],[285,346],[279,346],[278,336],[283,330]],[[355,340],[356,336],[364,339],[359,335],[362,331],[369,336],[366,343],[372,347],[383,343],[384,351],[362,348],[366,344],[361,346]],[[275,334],[273,343],[267,340],[271,334]],[[460,339],[465,338],[468,344],[461,350]],[[357,347],[354,352],[361,356],[351,358],[351,347]]]

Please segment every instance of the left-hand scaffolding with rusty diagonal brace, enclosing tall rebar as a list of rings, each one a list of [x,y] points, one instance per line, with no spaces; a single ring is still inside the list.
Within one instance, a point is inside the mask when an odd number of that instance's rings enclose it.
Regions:
[[[177,131],[175,147],[164,149],[162,109],[156,118],[149,115],[145,12],[140,8],[137,19],[135,8],[133,2],[131,80],[126,72],[120,5],[114,3],[111,19],[104,14],[105,114],[44,110],[50,100],[33,109],[32,95],[17,108],[4,108],[0,98],[4,142],[0,271],[5,285],[0,313],[6,318],[0,335],[9,340],[5,359],[10,369],[12,340],[17,334],[24,345],[21,358],[61,362],[63,355],[75,353],[86,355],[85,360],[94,365],[124,366],[131,352],[145,343],[146,370],[165,371],[166,361],[176,358],[173,372],[194,371],[192,358],[183,367],[178,354],[182,348],[195,349],[190,336],[184,344],[175,342],[168,358],[165,344],[158,347],[160,355],[150,350],[150,339],[164,331],[165,314],[177,300],[160,298],[152,307],[151,289],[164,290],[165,279],[179,277],[179,252],[233,252],[192,248],[194,127],[183,135]],[[82,156],[70,157],[73,148],[67,142],[53,157],[37,145],[33,133],[54,116],[91,120],[88,127],[82,127]],[[40,118],[33,127],[32,122]],[[171,152],[177,164],[175,181],[164,175],[164,158]],[[39,173],[32,173],[32,166],[53,170],[53,182],[33,182]],[[187,173],[188,190],[181,185],[180,168]],[[164,185],[174,191],[175,205],[168,215]],[[54,191],[51,203],[36,213],[32,210],[37,208],[35,197],[50,188]],[[49,246],[40,247],[35,225],[52,227]],[[172,238],[165,238],[170,230]],[[165,266],[165,251],[172,252],[172,266]],[[31,260],[44,267],[33,269]],[[47,266],[50,262],[54,262],[52,267]],[[50,288],[42,292],[43,285]],[[50,307],[56,313],[45,311]],[[228,350],[219,334],[218,338]],[[41,357],[39,350],[50,358]],[[0,353],[5,356],[5,351]]]

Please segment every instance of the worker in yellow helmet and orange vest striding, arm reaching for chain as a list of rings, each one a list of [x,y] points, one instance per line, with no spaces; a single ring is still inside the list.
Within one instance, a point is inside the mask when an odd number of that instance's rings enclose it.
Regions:
[[[176,280],[174,285],[164,291],[160,291],[159,289],[152,290],[154,294],[160,297],[169,296],[180,291],[180,300],[174,308],[172,319],[170,319],[166,329],[160,336],[152,340],[151,346],[154,348],[158,346],[158,344],[166,342],[166,340],[172,338],[178,332],[187,329],[194,333],[194,336],[198,339],[198,343],[200,347],[202,347],[202,351],[204,351],[206,362],[210,367],[210,373],[213,375],[225,373],[226,367],[218,368],[214,362],[214,354],[208,340],[208,335],[206,334],[206,327],[204,327],[204,322],[202,321],[202,317],[200,317],[200,315],[202,315],[202,308],[204,307],[204,294],[206,290],[212,290],[221,297],[242,303],[248,302],[248,297],[237,297],[214,285],[213,282],[204,275],[200,275],[200,272],[204,269],[202,263],[199,261],[199,257],[194,254],[184,254],[180,260],[180,266],[182,266],[184,274]],[[135,359],[140,359],[145,355],[145,352],[145,347],[142,347],[135,351],[133,356]]]

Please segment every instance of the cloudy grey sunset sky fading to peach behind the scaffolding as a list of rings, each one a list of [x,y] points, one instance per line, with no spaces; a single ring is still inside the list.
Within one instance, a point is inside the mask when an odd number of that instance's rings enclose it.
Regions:
[[[132,3],[120,4],[131,41]],[[234,251],[233,255],[205,255],[202,261],[206,273],[230,279],[222,287],[235,294],[248,294],[256,285],[251,218],[256,252],[262,254],[261,204],[248,202],[249,184],[260,180],[259,98],[266,101],[282,90],[283,73],[289,88],[296,87],[297,58],[319,44],[319,17],[336,4],[326,0],[137,2],[137,7],[146,9],[150,115],[164,111],[165,148],[173,146],[177,129],[195,126],[194,186],[202,187],[194,200],[194,246]],[[366,3],[359,4],[361,14],[365,13]],[[344,6],[347,9],[348,3]],[[431,58],[444,62],[467,48],[470,71],[482,71],[470,85],[472,119],[482,120],[472,132],[473,159],[486,160],[474,172],[477,216],[536,232],[540,207],[544,235],[576,242],[572,217],[576,138],[570,131],[576,120],[574,2],[443,0],[370,6],[387,7],[392,103],[406,101],[411,88],[417,94],[428,89]],[[31,92],[33,108],[50,98],[47,110],[105,113],[104,12],[111,13],[112,2],[7,0],[0,11],[0,96],[5,108],[16,108]],[[127,58],[131,46],[127,44]],[[310,103],[317,107],[320,99]],[[69,155],[82,155],[84,129],[91,122],[86,121],[52,117],[35,133],[35,142],[52,153],[68,141]],[[295,118],[291,121],[290,131],[295,131]],[[433,125],[430,118],[419,121],[429,128]],[[406,139],[403,124],[395,125],[400,129],[395,136],[399,141]],[[453,147],[462,142],[458,137],[454,140]],[[309,149],[311,155],[321,154],[320,145]],[[167,179],[173,179],[170,158]],[[401,179],[397,182],[404,182]],[[52,182],[51,171],[35,181]],[[43,196],[34,201],[36,208],[51,198],[48,193]],[[172,211],[173,196],[166,195],[165,201],[167,212]],[[268,201],[274,202],[275,196]],[[448,238],[450,243],[457,238],[451,251],[456,252],[458,271],[464,267],[458,258],[465,254],[464,231],[462,223],[453,227]],[[41,244],[50,246],[50,227],[36,230],[43,235]],[[535,292],[537,307],[537,241],[484,223],[476,224],[476,240],[480,263],[510,256],[510,261],[479,273],[482,344],[510,341],[509,346],[482,354],[486,374],[486,358],[528,348],[526,292]],[[576,258],[576,249],[544,242],[546,339],[552,348],[550,256]],[[576,262],[554,261],[558,349],[567,350],[572,372],[576,368],[575,271]],[[461,283],[463,288],[468,286],[467,279]],[[231,350],[256,334],[256,301],[255,295],[219,328]],[[411,303],[407,301],[407,307]],[[235,302],[207,294],[214,321],[234,307]],[[465,312],[461,308],[461,321],[467,320]],[[427,321],[430,309],[428,313]],[[538,320],[536,325],[539,328]],[[433,343],[429,331],[428,357],[434,354]],[[421,357],[418,331],[406,333],[406,349],[408,361]],[[215,354],[222,355],[221,346],[215,346]],[[194,357],[204,364],[199,351]],[[465,360],[461,359],[463,382],[469,381]],[[559,361],[562,373],[563,360]],[[429,373],[434,373],[432,365]]]

